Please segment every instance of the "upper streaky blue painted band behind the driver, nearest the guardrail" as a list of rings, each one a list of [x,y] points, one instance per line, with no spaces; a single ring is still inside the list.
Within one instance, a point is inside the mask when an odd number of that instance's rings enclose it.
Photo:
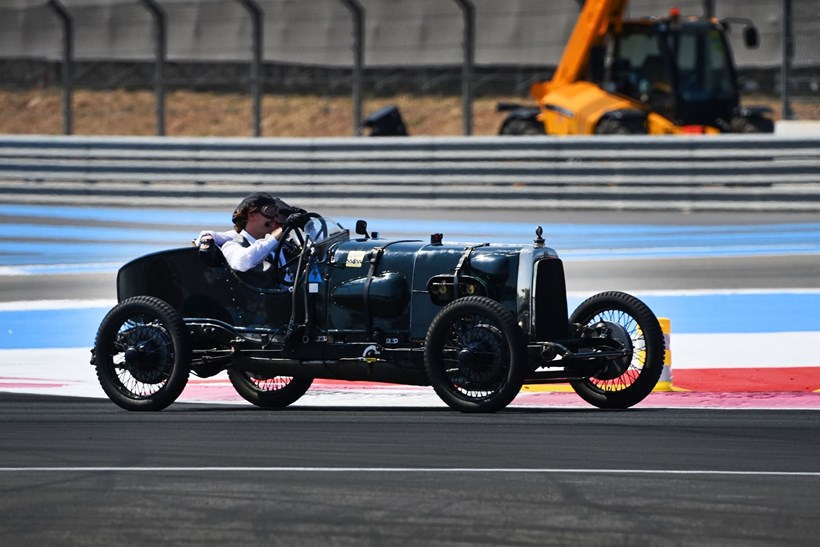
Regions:
[[[0,205],[0,216],[120,221],[128,227],[0,224],[0,266],[122,264],[146,253],[189,245],[201,229],[229,229],[229,213],[168,209],[116,209]],[[353,218],[341,218],[353,226]],[[521,243],[532,241],[535,223],[371,219],[386,238]],[[820,223],[739,226],[657,226],[544,223],[547,245],[565,260],[693,258],[820,254]],[[97,271],[99,267],[96,267]],[[19,273],[27,273],[20,270]]]

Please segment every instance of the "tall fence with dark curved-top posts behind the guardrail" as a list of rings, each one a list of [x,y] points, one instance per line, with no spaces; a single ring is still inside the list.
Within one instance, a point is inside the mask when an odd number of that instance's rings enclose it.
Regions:
[[[62,86],[69,107],[71,88],[142,88],[158,96],[168,89],[328,97],[352,90],[359,103],[356,125],[362,97],[461,94],[464,116],[469,116],[473,97],[524,97],[533,82],[551,76],[579,3],[2,0],[0,83],[7,89]],[[662,17],[670,5],[668,0],[633,0],[627,15]],[[780,101],[784,117],[790,116],[793,102],[817,101],[816,0],[682,0],[675,5],[684,15],[715,15],[730,25],[732,18],[743,17],[756,24],[757,49],[743,47],[740,27],[729,33],[744,93]],[[800,114],[814,117],[817,112]]]

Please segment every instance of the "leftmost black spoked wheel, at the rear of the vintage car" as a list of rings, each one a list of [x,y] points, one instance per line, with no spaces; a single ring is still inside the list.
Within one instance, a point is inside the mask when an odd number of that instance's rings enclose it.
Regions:
[[[152,296],[123,300],[105,316],[94,342],[97,378],[126,410],[162,410],[188,383],[191,351],[179,314]]]

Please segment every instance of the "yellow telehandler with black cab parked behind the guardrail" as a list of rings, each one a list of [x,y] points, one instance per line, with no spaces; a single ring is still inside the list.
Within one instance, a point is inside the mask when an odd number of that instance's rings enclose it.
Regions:
[[[767,107],[740,105],[726,33],[748,19],[624,20],[628,0],[586,0],[548,82],[533,84],[538,108],[501,103],[501,135],[668,135],[772,132]]]

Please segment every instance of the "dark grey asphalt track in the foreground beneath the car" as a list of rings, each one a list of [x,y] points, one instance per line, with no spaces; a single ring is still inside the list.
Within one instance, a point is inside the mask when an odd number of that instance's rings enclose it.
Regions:
[[[0,394],[0,542],[814,545],[817,411],[111,403]]]

